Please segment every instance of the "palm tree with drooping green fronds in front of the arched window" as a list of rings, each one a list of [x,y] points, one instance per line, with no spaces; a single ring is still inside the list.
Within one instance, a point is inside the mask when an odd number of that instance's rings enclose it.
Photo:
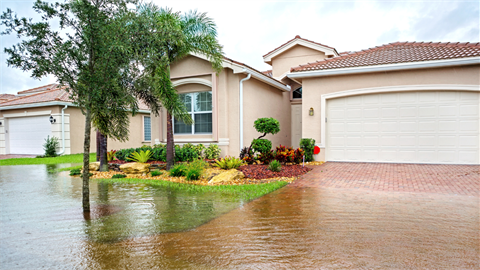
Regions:
[[[170,80],[170,65],[189,54],[207,57],[217,72],[222,69],[222,46],[217,40],[216,25],[206,13],[190,11],[186,14],[144,4],[137,9],[136,43],[143,76],[139,87],[153,88],[167,111],[167,169],[173,166],[174,141],[172,116],[185,124],[193,124],[177,91]],[[153,110],[152,110],[153,111]]]

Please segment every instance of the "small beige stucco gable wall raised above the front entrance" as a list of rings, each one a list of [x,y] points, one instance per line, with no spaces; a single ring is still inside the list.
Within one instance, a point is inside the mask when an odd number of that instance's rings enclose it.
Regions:
[[[325,53],[297,45],[272,58],[273,77],[289,72],[292,67],[325,59]]]

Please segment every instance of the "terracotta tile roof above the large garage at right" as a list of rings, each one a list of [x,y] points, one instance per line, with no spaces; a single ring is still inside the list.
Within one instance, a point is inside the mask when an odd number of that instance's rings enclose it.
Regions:
[[[345,52],[292,68],[291,72],[375,66],[480,56],[480,43],[395,42],[358,52]]]

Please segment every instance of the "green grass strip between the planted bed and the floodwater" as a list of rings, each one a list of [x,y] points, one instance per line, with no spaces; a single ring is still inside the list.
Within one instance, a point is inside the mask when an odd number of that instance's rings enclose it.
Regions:
[[[175,183],[163,180],[146,180],[138,178],[117,178],[117,179],[95,179],[99,182],[107,183],[127,183],[127,184],[147,184],[154,187],[164,187],[177,191],[190,193],[222,193],[225,195],[233,195],[244,201],[251,201],[265,194],[282,188],[288,184],[285,181],[271,182],[257,185],[222,185],[222,186],[200,186]]]

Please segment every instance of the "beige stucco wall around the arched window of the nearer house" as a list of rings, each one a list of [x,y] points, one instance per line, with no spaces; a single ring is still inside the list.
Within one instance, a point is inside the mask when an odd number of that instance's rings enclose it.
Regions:
[[[184,69],[184,70],[181,70]],[[240,153],[240,122],[239,122],[239,86],[245,74],[234,74],[225,68],[219,74],[214,74],[209,62],[187,57],[171,67],[172,81],[203,79],[212,82],[212,87],[199,83],[189,83],[177,86],[179,93],[196,91],[213,91],[213,121],[217,121],[212,134],[175,135],[175,143],[191,142],[194,144],[210,143],[219,145],[221,156],[238,156]],[[190,74],[190,75],[189,75]],[[207,75],[204,75],[207,74]],[[177,77],[175,77],[177,76]],[[214,80],[214,81],[213,81]],[[253,122],[260,117],[275,117],[281,122],[279,134],[269,136],[274,145],[290,145],[290,93],[282,92],[254,78],[244,82],[244,145],[248,146],[253,138],[260,136],[253,127]],[[153,141],[166,142],[166,113],[153,118]],[[216,135],[216,136],[215,136]]]

